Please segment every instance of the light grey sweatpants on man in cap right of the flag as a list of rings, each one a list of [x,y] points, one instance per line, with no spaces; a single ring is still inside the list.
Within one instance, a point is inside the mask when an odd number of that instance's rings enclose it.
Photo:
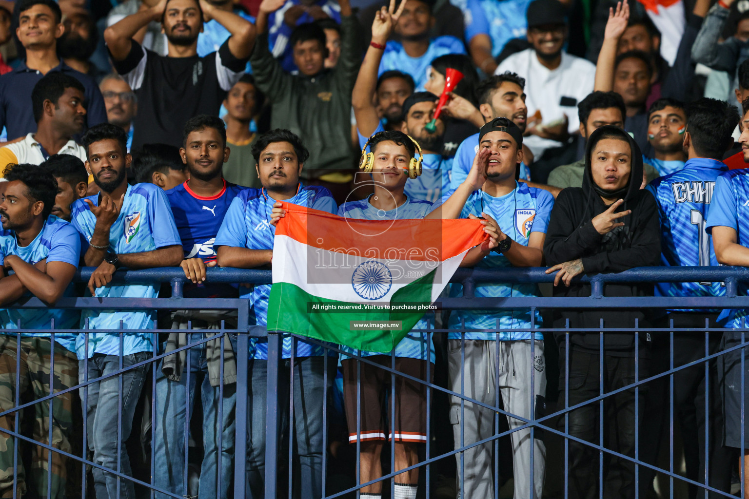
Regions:
[[[465,364],[461,369],[461,340],[449,340],[450,390],[496,407],[499,388],[504,410],[530,419],[535,410],[536,396],[546,393],[544,343],[536,340],[533,350],[531,343],[531,340],[465,340]],[[455,448],[496,435],[495,414],[495,411],[473,402],[465,402],[461,411],[461,397],[450,396],[450,422]],[[507,420],[511,430],[525,424],[514,417]],[[539,439],[539,430],[536,430],[533,447],[533,495],[530,487],[530,429],[512,432],[510,436],[512,465],[515,468],[515,499],[539,499],[546,468],[546,447]],[[494,441],[465,450],[462,465],[461,454],[456,454],[455,458],[458,461],[458,491],[461,490],[461,482],[464,489],[460,498],[494,498]]]

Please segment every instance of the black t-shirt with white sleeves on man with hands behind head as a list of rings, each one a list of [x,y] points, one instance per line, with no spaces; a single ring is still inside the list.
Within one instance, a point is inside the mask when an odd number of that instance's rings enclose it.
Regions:
[[[237,59],[228,40],[205,57],[164,57],[133,40],[130,53],[115,61],[115,70],[138,97],[133,145],[182,145],[182,129],[197,114],[219,115],[221,102],[242,76],[246,59]]]

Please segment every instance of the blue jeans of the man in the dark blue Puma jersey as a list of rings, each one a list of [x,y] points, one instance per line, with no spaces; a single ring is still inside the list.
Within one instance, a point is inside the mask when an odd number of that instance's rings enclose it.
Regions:
[[[192,333],[189,343],[195,343],[204,338],[203,333]],[[234,343],[234,341],[232,341]],[[237,385],[224,385],[223,399],[220,388],[210,385],[207,362],[205,358],[205,343],[193,346],[188,350],[186,360],[189,369],[184,370],[180,381],[172,381],[164,376],[161,364],[156,374],[156,419],[154,420],[154,486],[158,489],[172,492],[176,495],[187,495],[187,483],[184,482],[185,447],[187,408],[192,416],[195,400],[195,385],[198,374],[204,373],[200,387],[200,397],[203,403],[203,462],[200,468],[199,492],[201,498],[216,498],[216,489],[220,489],[220,497],[228,497],[228,489],[234,476],[232,458],[234,457],[234,408],[237,402]],[[234,344],[234,351],[236,352]],[[189,377],[189,389],[187,378]],[[222,401],[221,401],[222,400]],[[221,401],[221,402],[219,402]],[[219,403],[222,406],[221,423],[219,419]],[[221,453],[220,486],[216,483],[219,477],[218,459],[219,445]],[[157,493],[157,499],[169,498]]]

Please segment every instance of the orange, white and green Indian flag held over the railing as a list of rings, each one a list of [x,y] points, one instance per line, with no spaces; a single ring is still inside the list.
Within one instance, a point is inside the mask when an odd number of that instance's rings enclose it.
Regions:
[[[273,242],[268,331],[390,352],[440,296],[478,220],[358,220],[284,203]],[[353,325],[400,321],[368,331]]]

